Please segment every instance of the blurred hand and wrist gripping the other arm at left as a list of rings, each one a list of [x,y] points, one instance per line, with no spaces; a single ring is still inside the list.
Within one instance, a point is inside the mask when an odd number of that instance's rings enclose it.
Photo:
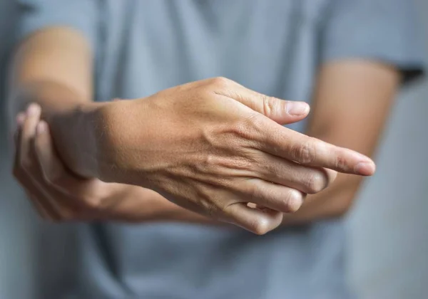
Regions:
[[[155,192],[71,174],[56,154],[38,105],[16,120],[14,176],[44,219],[144,221],[151,216],[148,201],[161,200]]]

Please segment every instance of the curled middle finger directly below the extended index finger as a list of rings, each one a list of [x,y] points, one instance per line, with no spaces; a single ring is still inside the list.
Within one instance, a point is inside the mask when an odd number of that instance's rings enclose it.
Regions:
[[[260,179],[307,194],[321,192],[330,186],[337,176],[337,172],[332,169],[303,166],[272,154],[261,157],[254,171]]]

